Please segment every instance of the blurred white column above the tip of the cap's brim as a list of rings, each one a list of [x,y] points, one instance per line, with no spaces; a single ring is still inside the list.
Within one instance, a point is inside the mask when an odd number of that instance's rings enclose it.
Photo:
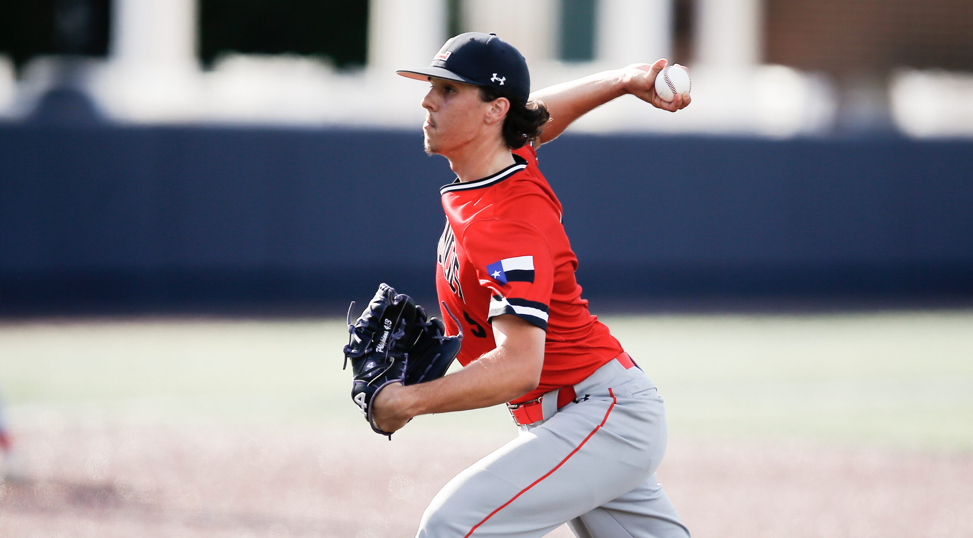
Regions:
[[[445,0],[370,0],[368,67],[429,65],[447,39]]]

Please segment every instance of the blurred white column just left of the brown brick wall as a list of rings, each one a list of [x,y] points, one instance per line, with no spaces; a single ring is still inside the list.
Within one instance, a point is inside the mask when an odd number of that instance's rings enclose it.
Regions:
[[[697,0],[696,62],[739,68],[763,60],[761,0]]]

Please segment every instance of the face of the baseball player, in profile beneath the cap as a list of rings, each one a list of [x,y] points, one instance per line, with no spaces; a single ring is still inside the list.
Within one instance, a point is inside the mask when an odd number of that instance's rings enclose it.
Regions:
[[[430,78],[432,86],[422,99],[426,120],[422,124],[426,153],[447,158],[484,136],[492,122],[486,117],[490,103],[480,89],[444,79]]]

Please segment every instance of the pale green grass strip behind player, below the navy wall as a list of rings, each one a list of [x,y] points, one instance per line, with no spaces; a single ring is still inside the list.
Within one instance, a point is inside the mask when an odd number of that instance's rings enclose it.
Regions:
[[[973,451],[973,312],[603,318],[685,439]],[[10,420],[360,423],[343,321],[0,324]],[[509,429],[502,408],[412,428]]]

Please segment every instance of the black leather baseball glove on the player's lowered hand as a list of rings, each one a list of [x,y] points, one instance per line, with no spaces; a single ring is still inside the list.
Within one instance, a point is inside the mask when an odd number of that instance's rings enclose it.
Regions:
[[[395,293],[387,284],[378,286],[372,302],[352,323],[354,306],[351,303],[348,307],[351,336],[344,346],[344,368],[350,360],[354,374],[351,399],[372,429],[391,439],[392,434],[379,429],[372,417],[372,402],[378,391],[389,383],[412,385],[445,376],[459,353],[462,329],[458,335],[447,337],[442,321],[427,318],[422,306],[408,295]],[[449,307],[443,306],[460,327]]]

